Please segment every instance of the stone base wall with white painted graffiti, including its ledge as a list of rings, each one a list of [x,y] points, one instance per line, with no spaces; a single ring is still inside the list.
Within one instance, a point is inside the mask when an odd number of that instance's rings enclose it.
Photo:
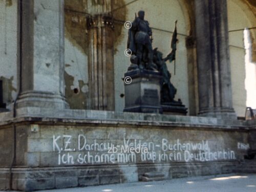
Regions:
[[[15,190],[39,190],[136,182],[148,172],[163,179],[232,173],[247,154],[248,127],[254,126],[112,112],[35,116],[0,123],[0,189],[10,183]]]

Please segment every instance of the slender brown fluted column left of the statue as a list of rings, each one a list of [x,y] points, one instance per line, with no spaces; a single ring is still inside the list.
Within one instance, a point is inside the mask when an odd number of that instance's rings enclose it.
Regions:
[[[90,29],[89,90],[93,110],[115,110],[113,20],[111,1],[89,5]],[[121,80],[121,79],[120,79]]]

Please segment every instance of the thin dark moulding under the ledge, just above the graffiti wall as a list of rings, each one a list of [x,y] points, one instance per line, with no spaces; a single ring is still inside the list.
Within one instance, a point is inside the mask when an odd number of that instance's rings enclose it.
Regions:
[[[246,131],[254,129],[254,126],[246,125],[218,125],[218,124],[194,124],[182,122],[168,122],[168,121],[135,121],[135,120],[96,120],[96,119],[68,119],[68,118],[43,118],[43,117],[20,117],[14,120],[0,121],[1,126],[11,125],[13,123],[29,122],[30,124],[45,124],[45,125],[102,125],[119,127],[122,125],[140,126],[146,129],[153,129],[161,126],[161,129],[194,129],[194,130],[241,130]]]

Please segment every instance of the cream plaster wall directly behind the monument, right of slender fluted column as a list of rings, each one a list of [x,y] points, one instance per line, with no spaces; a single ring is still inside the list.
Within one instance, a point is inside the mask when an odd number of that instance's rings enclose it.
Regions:
[[[185,2],[185,1],[184,1]],[[176,55],[176,72],[174,74],[174,62],[168,63],[168,70],[172,73],[171,81],[177,88],[175,99],[179,98],[189,108],[189,85],[188,82],[188,62],[193,63],[194,58],[191,59],[193,53],[188,54],[186,47],[186,40],[190,32],[190,18],[185,11],[186,6],[183,1],[168,1],[161,0],[139,0],[125,6],[125,18],[132,22],[135,13],[139,10],[145,11],[145,19],[150,23],[153,29],[153,49],[158,48],[159,51],[166,56],[170,50],[170,40],[172,32],[174,31],[175,20],[178,20],[178,39]],[[115,18],[117,19],[117,18]],[[123,25],[122,23],[120,25]],[[124,98],[120,97],[124,93],[124,86],[122,77],[130,65],[129,58],[124,56],[127,42],[127,29],[122,28],[121,35],[118,42],[115,44],[115,110],[122,111],[124,108]],[[194,75],[193,75],[194,76]],[[193,90],[193,95],[195,95]],[[195,99],[194,99],[195,100]],[[194,101],[195,102],[195,101]]]

